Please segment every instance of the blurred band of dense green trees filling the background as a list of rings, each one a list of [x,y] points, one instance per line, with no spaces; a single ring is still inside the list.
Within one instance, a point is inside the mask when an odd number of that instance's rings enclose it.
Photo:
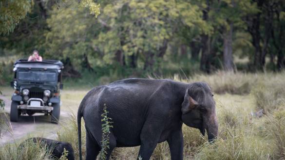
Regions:
[[[26,12],[16,28],[19,19],[10,18],[6,31],[14,32],[0,36],[0,56],[26,58],[36,48],[44,59],[62,60],[66,77],[83,70],[120,78],[285,66],[283,0],[28,2],[31,9],[17,4]],[[1,4],[16,10],[13,0]]]

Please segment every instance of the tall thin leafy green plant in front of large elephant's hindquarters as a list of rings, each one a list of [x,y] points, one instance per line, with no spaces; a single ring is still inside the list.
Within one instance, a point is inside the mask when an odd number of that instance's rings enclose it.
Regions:
[[[99,153],[99,160],[106,160],[107,149],[109,149],[109,134],[111,125],[113,122],[112,118],[108,117],[107,106],[104,104],[103,113],[101,114],[102,122],[102,141],[101,141],[101,151]]]

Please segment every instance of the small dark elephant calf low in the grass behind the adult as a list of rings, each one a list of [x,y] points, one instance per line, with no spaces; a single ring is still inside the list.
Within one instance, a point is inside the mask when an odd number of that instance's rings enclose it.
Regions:
[[[25,142],[34,142],[34,143],[42,143],[44,146],[47,147],[47,149],[52,150],[52,158],[59,159],[65,150],[68,151],[67,159],[68,160],[74,160],[74,150],[71,146],[71,144],[67,142],[60,142],[60,141],[55,141],[55,140],[50,140],[46,138],[41,138],[41,137],[35,137],[35,138],[29,138],[25,140]],[[25,143],[23,142],[23,143]],[[23,145],[21,144],[21,146]]]

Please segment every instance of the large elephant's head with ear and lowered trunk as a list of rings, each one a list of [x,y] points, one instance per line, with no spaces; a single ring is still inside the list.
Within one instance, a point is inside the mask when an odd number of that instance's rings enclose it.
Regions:
[[[210,87],[205,82],[189,84],[182,103],[182,121],[187,126],[200,129],[211,142],[218,136],[218,122],[215,111],[215,101]]]

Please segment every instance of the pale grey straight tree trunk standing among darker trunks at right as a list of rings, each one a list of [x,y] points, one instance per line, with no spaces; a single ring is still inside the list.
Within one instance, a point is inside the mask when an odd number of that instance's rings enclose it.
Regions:
[[[232,58],[232,30],[233,30],[233,24],[232,22],[229,25],[229,30],[225,30],[224,33],[224,46],[223,46],[223,64],[224,69],[226,71],[232,71],[233,70],[233,58]]]

